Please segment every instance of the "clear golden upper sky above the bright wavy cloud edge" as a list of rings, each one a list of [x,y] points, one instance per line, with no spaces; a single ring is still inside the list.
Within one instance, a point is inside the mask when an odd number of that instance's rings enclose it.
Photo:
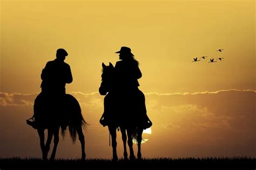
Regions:
[[[60,47],[74,77],[68,91],[97,91],[101,63],[115,63],[121,46],[140,62],[147,93],[255,88],[254,1],[2,0],[1,16],[3,92],[38,92]],[[208,63],[217,57],[224,62]]]

